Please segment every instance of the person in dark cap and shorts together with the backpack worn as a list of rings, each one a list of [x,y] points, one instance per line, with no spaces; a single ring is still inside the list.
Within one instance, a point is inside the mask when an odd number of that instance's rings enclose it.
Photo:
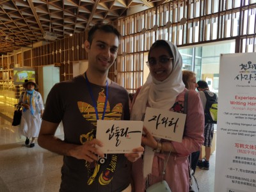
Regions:
[[[198,168],[202,170],[209,170],[209,160],[211,156],[211,145],[214,133],[214,124],[216,124],[216,117],[211,115],[210,108],[218,104],[218,96],[209,90],[209,86],[205,81],[198,81],[198,87],[196,88],[202,100],[202,105],[205,114],[204,125],[204,146],[205,146],[205,158],[202,158],[202,147],[200,150],[200,156],[197,163]]]

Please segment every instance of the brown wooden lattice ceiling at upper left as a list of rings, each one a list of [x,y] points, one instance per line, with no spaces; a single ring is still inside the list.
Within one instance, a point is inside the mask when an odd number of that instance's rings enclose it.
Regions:
[[[108,23],[138,5],[148,8],[163,0],[0,0],[0,55],[45,40],[86,31]]]

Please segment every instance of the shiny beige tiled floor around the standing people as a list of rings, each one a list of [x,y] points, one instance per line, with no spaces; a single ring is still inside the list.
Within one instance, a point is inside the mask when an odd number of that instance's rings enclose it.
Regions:
[[[59,191],[62,156],[37,144],[34,148],[26,146],[19,126],[13,127],[4,117],[0,113],[0,192]],[[61,128],[56,134],[63,138]],[[200,191],[214,191],[215,153],[210,163],[209,171],[196,169]]]

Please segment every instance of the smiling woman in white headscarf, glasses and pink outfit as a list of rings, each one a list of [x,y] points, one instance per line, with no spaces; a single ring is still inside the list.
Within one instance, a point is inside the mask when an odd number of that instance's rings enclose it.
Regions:
[[[157,40],[150,47],[147,64],[150,74],[134,95],[131,120],[143,120],[147,107],[184,113],[187,89],[182,82],[182,58],[177,47],[166,40]],[[204,142],[204,113],[197,92],[189,90],[187,107],[181,143],[154,138],[147,127],[143,128],[145,135],[141,142],[145,145],[145,154],[132,165],[134,191],[145,191],[162,179],[172,192],[189,191],[188,156]]]

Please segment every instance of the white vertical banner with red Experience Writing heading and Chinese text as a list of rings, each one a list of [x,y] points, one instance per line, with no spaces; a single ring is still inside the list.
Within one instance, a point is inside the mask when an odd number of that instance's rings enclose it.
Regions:
[[[214,191],[256,191],[256,53],[220,56]]]

